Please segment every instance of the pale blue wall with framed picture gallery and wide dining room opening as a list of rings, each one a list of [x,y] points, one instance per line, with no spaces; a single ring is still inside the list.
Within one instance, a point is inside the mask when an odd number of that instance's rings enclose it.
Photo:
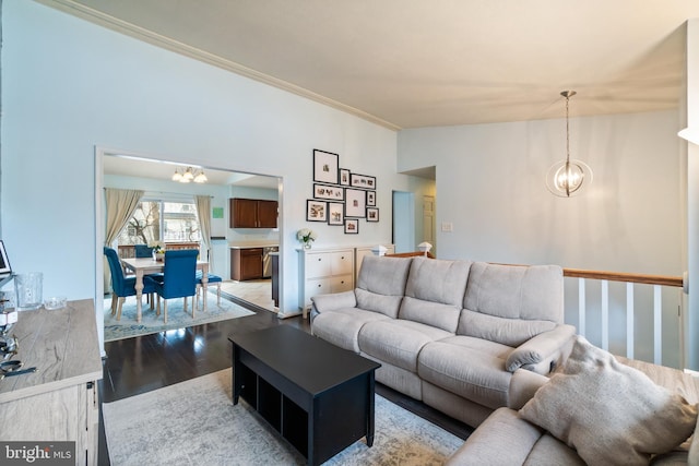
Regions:
[[[297,229],[312,150],[377,177],[384,220],[360,235],[312,224],[317,247],[391,236],[395,132],[27,1],[2,3],[2,234],[45,294],[94,297],[95,146],[283,178],[282,312],[297,311]]]

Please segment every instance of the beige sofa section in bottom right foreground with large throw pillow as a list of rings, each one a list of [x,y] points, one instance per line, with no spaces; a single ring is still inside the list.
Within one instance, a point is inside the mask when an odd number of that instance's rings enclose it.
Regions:
[[[699,378],[576,339],[550,378],[516,371],[519,396],[446,465],[699,466]]]

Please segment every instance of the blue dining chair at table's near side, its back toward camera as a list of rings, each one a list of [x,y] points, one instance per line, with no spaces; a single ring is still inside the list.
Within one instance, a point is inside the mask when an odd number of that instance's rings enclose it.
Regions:
[[[167,323],[167,300],[171,298],[185,298],[185,313],[187,313],[187,298],[192,297],[192,318],[194,318],[193,296],[197,294],[197,255],[196,249],[180,249],[165,251],[165,264],[162,277],[145,276],[155,287],[157,292],[156,315],[161,314],[161,298],[165,300],[163,306],[163,319]]]

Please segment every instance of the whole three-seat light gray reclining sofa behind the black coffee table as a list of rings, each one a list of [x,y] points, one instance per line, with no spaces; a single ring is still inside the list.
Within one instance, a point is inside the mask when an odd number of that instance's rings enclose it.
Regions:
[[[355,290],[312,298],[311,330],[381,362],[377,381],[476,427],[570,351],[562,271],[425,258],[364,259]]]

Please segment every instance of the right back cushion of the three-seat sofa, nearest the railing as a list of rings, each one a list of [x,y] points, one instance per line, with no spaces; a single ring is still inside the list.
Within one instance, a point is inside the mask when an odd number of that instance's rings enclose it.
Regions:
[[[557,265],[474,262],[457,333],[519,346],[562,323],[562,284]]]

